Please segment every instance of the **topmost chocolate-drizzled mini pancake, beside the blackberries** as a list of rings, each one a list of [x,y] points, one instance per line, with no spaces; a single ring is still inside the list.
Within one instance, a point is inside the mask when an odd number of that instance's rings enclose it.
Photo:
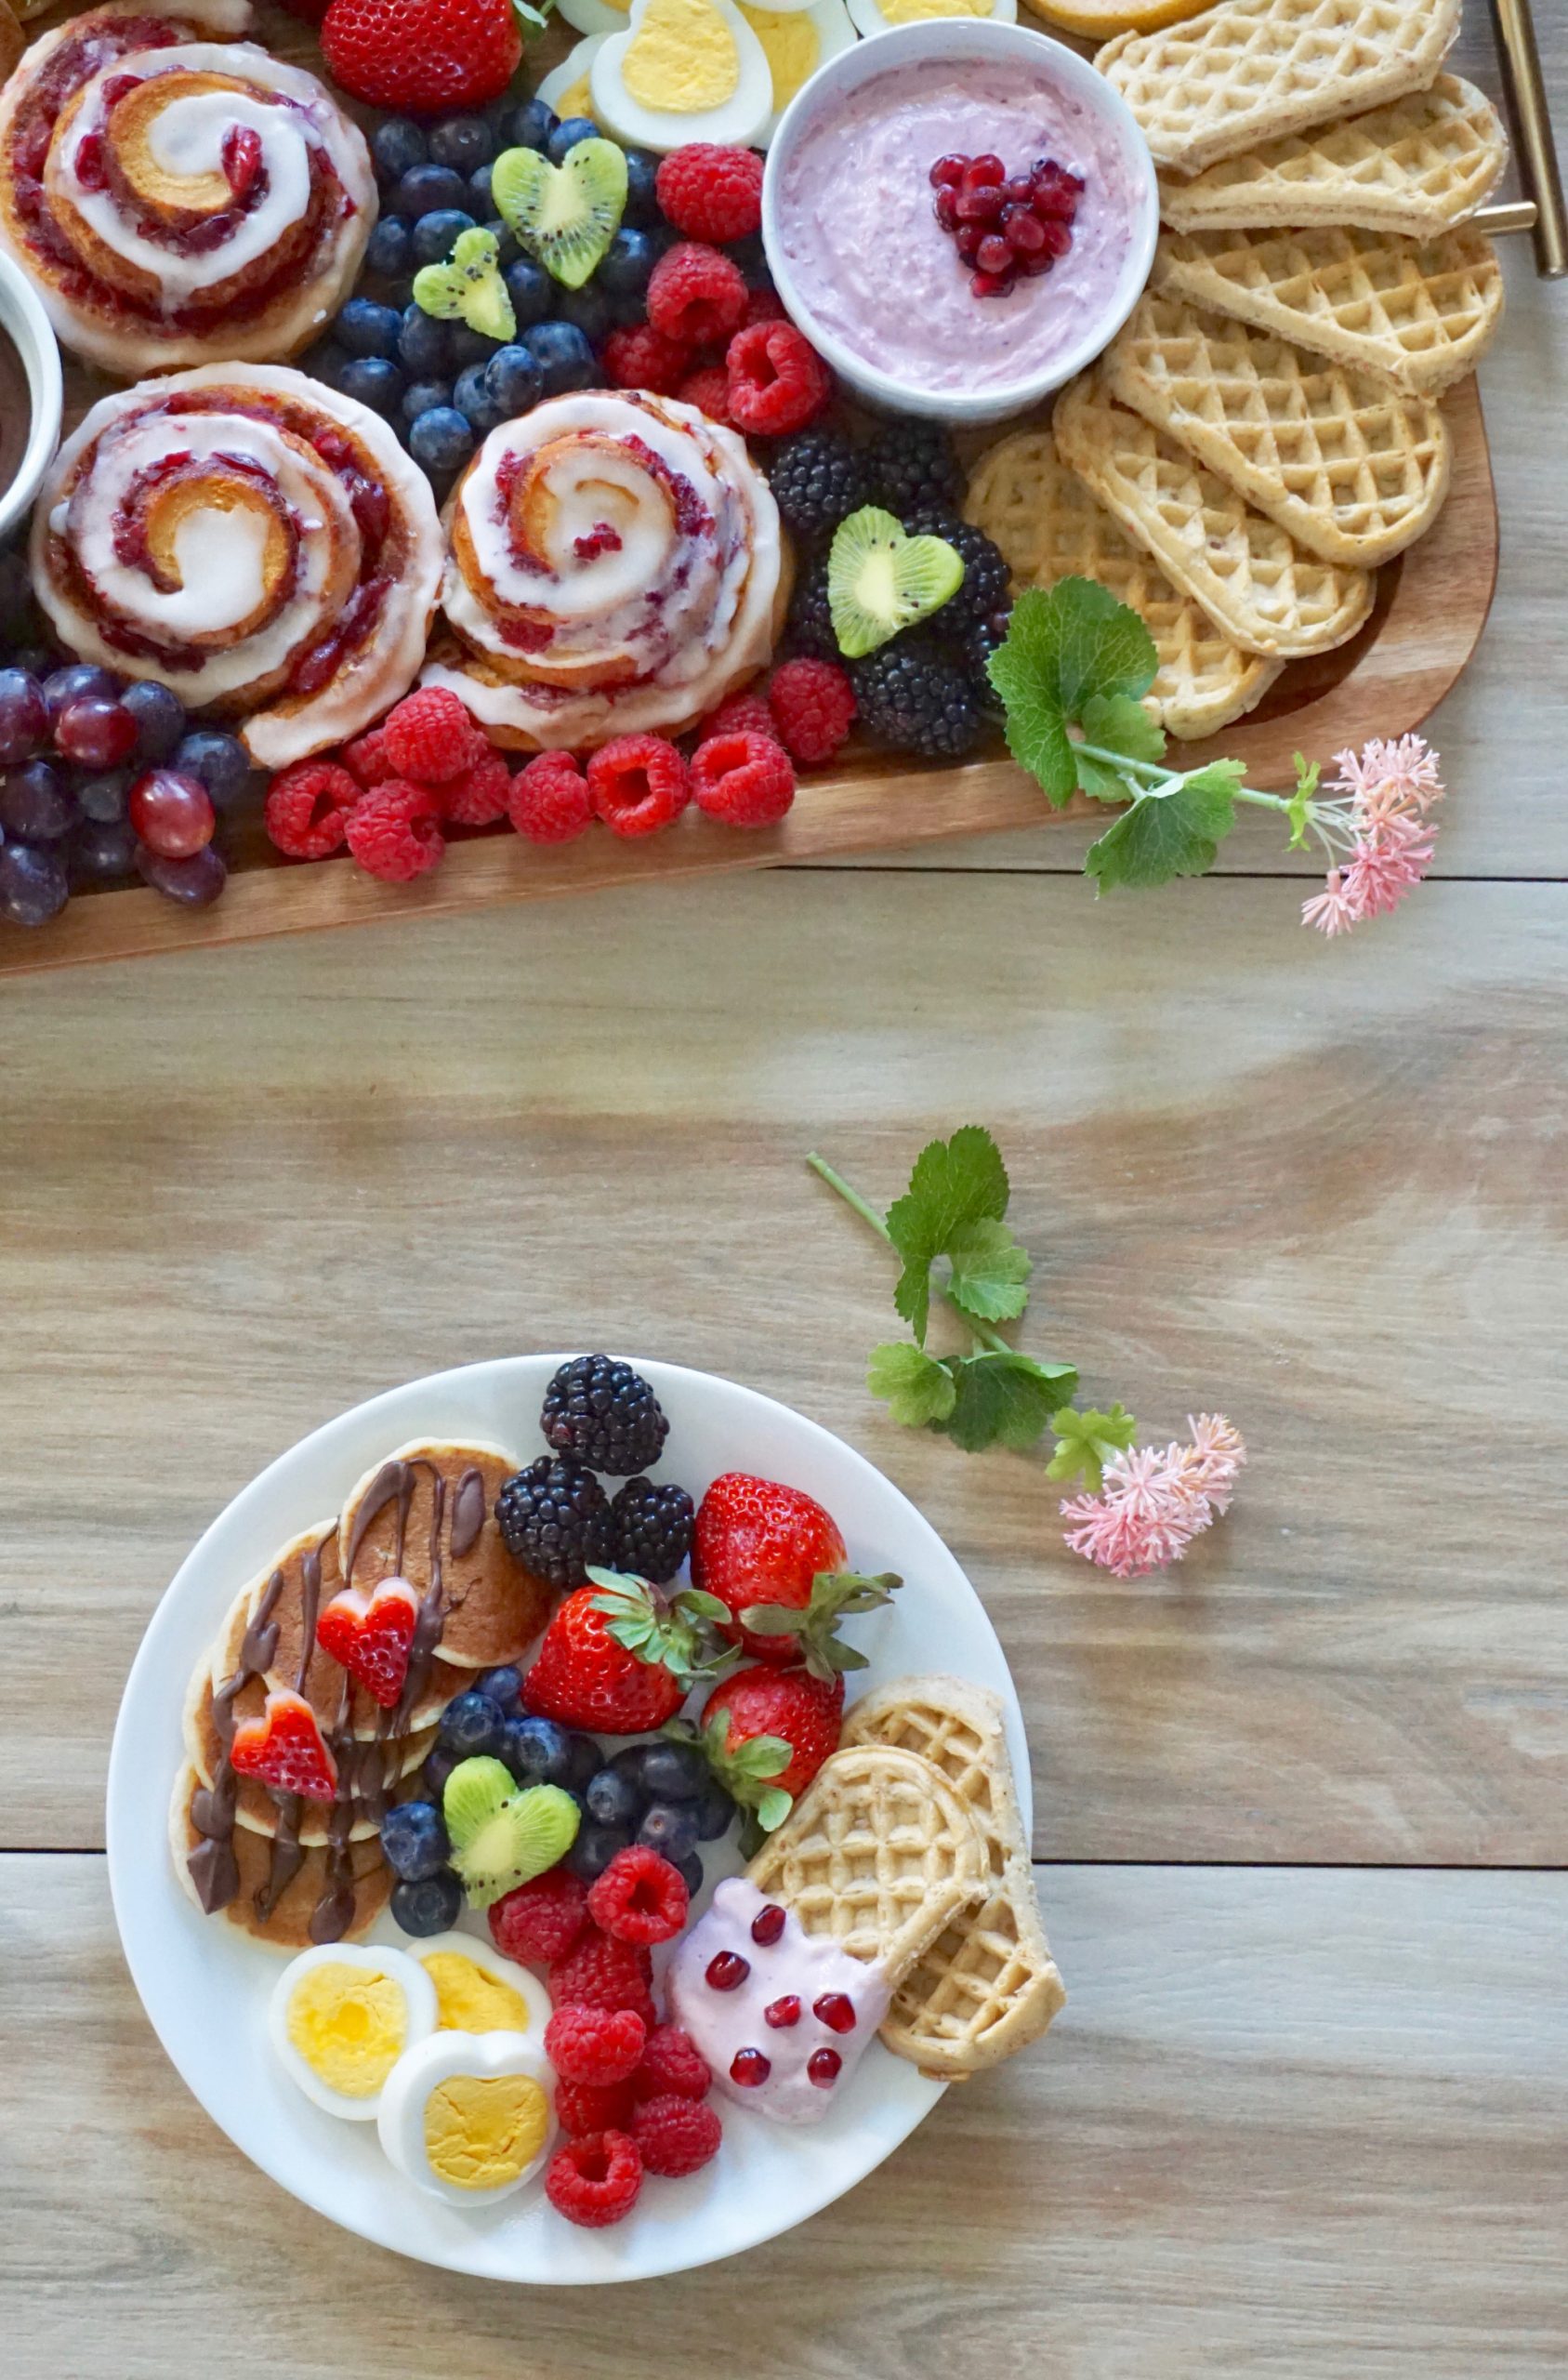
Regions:
[[[495,1497],[514,1471],[504,1447],[416,1438],[366,1471],[343,1507],[343,1576],[355,1587],[407,1578],[421,1597],[440,1576],[440,1659],[462,1671],[519,1661],[550,1618],[550,1587],[495,1526]]]

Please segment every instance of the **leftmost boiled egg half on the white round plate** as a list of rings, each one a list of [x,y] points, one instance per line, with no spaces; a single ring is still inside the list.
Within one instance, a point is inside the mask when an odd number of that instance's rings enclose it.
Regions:
[[[278,1975],[271,2044],[307,2099],[364,2123],[397,2061],[435,2033],[435,1983],[400,1949],[321,1942]]]

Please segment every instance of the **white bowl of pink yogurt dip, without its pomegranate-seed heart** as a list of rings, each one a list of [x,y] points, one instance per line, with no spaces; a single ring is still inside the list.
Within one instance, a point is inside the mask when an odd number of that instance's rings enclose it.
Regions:
[[[930,167],[1054,157],[1083,176],[1073,245],[999,298],[971,293]],[[859,43],[792,100],[769,150],[761,233],[785,307],[861,397],[1002,421],[1083,371],[1149,278],[1159,190],[1130,109],[1028,26],[933,19]]]

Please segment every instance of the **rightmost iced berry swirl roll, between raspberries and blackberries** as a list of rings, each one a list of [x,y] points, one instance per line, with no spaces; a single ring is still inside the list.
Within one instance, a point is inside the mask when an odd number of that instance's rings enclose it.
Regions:
[[[424,676],[493,743],[678,733],[773,647],[778,507],[742,440],[673,397],[588,390],[490,431],[447,543],[440,600],[466,652]]]

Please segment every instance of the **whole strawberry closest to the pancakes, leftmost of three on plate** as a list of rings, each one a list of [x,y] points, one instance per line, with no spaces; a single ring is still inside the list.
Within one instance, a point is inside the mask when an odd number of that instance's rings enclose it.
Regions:
[[[597,1735],[661,1728],[714,1664],[702,1602],[666,1595],[645,1578],[588,1571],[592,1580],[559,1606],[523,1678],[535,1718]]]

